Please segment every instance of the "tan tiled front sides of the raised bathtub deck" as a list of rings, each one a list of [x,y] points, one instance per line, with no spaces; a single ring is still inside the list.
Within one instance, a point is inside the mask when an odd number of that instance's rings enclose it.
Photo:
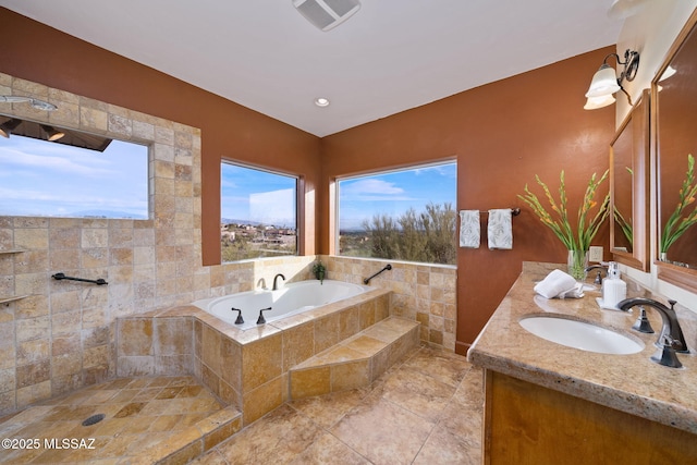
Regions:
[[[119,318],[117,375],[194,375],[248,425],[288,401],[291,367],[386,319],[389,294],[377,289],[245,331],[194,306]]]

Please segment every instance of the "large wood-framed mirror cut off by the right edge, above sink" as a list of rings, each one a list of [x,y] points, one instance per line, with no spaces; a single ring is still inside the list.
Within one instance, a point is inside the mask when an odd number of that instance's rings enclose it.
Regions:
[[[652,82],[659,278],[697,292],[697,32],[694,13]]]

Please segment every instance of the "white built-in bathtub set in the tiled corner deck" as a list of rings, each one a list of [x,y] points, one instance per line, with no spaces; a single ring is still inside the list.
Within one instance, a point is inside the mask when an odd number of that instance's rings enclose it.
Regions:
[[[267,323],[310,310],[321,305],[331,304],[344,298],[363,294],[374,287],[352,284],[343,281],[325,280],[320,284],[317,280],[299,281],[285,284],[278,291],[249,291],[222,297],[196,301],[192,305],[234,325],[241,330],[257,327],[259,310],[264,311]],[[243,323],[235,323],[237,311],[242,310]]]

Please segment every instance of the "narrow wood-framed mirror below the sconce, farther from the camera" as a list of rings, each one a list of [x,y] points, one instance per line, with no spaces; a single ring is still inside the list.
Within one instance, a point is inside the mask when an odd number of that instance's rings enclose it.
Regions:
[[[610,252],[613,260],[649,268],[649,91],[620,125],[610,144]]]

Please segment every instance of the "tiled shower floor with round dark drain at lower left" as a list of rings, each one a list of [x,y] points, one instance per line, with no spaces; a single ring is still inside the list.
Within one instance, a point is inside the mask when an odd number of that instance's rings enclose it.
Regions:
[[[82,425],[96,414],[105,418]],[[239,429],[235,416],[193,377],[122,378],[0,418],[0,463],[151,464],[185,444],[227,438]]]

